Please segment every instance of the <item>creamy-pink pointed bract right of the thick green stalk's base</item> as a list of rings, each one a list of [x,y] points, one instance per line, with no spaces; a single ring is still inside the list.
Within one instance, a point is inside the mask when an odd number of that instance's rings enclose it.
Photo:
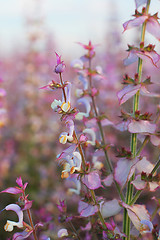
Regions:
[[[145,205],[135,204],[133,206],[129,206],[125,203],[122,203],[122,206],[127,209],[128,216],[138,231],[141,229],[142,220],[150,221],[150,215]]]

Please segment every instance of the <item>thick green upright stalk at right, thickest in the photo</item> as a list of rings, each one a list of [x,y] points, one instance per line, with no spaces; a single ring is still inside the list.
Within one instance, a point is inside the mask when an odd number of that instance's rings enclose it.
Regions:
[[[149,11],[149,6],[150,6],[150,1],[147,1],[147,6],[146,6],[146,14],[148,14]],[[142,32],[141,32],[141,42],[144,42],[145,40],[145,31],[146,31],[146,22],[143,23],[142,25]],[[138,59],[138,79],[139,79],[139,83],[141,82],[141,77],[142,77],[142,59],[139,58]],[[138,91],[135,96],[134,96],[134,100],[133,100],[133,116],[135,115],[135,111],[137,111],[139,109],[139,96],[140,96],[140,91]],[[136,157],[136,151],[137,151],[137,134],[133,133],[131,135],[131,144],[130,144],[130,148],[131,148],[131,153],[133,158]],[[131,179],[128,182],[127,185],[127,194],[126,194],[126,203],[130,204],[131,199],[132,199],[132,195],[133,195],[133,185],[131,184],[131,181],[134,179],[134,174],[131,177]],[[138,195],[137,195],[138,197]],[[127,213],[127,210],[124,209],[124,218],[123,218],[123,231],[126,234],[127,237],[124,237],[124,240],[130,240],[130,219]]]

